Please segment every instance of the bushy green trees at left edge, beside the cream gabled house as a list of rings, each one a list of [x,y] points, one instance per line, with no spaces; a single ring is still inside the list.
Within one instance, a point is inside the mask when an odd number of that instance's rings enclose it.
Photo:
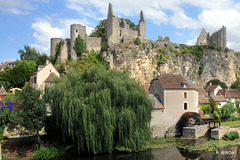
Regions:
[[[25,82],[29,81],[30,75],[36,71],[36,67],[37,65],[34,61],[17,61],[16,66],[1,72],[3,76],[1,77],[2,81],[9,83],[12,88],[22,88]]]

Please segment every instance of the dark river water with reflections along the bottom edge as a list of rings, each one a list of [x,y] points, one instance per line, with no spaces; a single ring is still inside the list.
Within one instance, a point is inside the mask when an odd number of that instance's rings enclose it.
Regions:
[[[58,160],[240,160],[240,146],[229,146],[215,152],[190,151],[177,147],[151,149],[138,153],[112,153],[97,156],[57,158]]]

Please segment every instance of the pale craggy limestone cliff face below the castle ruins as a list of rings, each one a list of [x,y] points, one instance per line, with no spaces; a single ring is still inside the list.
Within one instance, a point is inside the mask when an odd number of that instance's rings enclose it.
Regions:
[[[181,53],[178,44],[174,44],[175,48],[171,45],[118,45],[110,47],[107,55],[113,68],[128,69],[131,77],[142,84],[151,82],[154,71],[160,74],[182,74],[197,86],[205,86],[209,80],[219,79],[230,87],[239,75],[240,54],[233,50],[223,52],[204,49],[201,59],[197,61],[191,53]],[[164,61],[159,61],[161,54],[167,56]]]

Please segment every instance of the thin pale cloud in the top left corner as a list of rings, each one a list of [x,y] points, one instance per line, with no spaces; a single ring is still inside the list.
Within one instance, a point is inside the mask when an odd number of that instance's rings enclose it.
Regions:
[[[2,0],[0,1],[0,11],[3,13],[25,15],[29,14],[30,10],[36,9],[28,0]]]

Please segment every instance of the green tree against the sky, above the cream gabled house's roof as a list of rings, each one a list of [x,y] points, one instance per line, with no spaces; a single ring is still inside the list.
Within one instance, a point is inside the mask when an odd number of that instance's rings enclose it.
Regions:
[[[45,53],[40,54],[35,48],[31,48],[28,45],[24,46],[24,50],[19,49],[18,51],[21,60],[26,60],[28,62],[35,61],[37,65],[44,65],[48,59],[48,56]]]

